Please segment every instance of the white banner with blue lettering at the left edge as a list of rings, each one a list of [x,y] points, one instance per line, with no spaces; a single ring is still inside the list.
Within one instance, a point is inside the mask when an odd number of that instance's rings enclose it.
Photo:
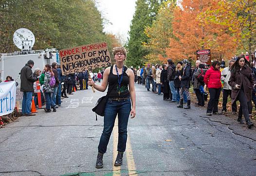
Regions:
[[[0,83],[0,116],[14,111],[16,102],[16,82]]]

